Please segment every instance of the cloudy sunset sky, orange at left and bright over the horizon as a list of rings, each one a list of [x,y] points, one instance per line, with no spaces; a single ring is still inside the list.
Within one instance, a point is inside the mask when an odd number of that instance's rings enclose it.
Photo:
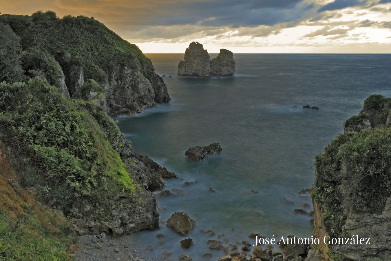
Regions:
[[[144,53],[391,53],[391,0],[0,0],[37,10],[93,16]]]

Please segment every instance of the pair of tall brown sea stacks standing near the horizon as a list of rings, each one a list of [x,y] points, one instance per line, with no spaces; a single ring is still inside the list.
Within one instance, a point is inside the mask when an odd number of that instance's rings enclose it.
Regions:
[[[179,61],[178,76],[205,77],[233,76],[236,62],[233,53],[226,49],[220,49],[216,58],[210,60],[207,50],[201,43],[190,43],[186,49],[184,61]]]

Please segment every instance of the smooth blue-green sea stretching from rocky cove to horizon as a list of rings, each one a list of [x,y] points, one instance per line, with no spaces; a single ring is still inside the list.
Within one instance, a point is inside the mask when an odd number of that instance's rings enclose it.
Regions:
[[[312,207],[311,199],[298,192],[314,180],[314,156],[343,132],[343,122],[359,113],[366,97],[391,96],[387,54],[235,54],[236,75],[212,79],[176,77],[183,54],[147,56],[156,72],[166,76],[172,101],[135,117],[119,117],[118,126],[137,153],[183,178],[166,180],[168,189],[188,194],[158,200],[166,209],[161,219],[186,212],[197,222],[187,237],[166,229],[165,223],[158,231],[135,236],[138,244],[152,246],[158,259],[169,250],[172,259],[188,254],[199,260],[212,252],[217,260],[223,252],[206,245],[217,234],[233,244],[249,240],[253,231],[278,234],[278,239],[310,237],[311,217],[293,210],[303,203]],[[321,109],[301,108],[307,104]],[[201,162],[184,155],[190,146],[212,142],[221,144],[221,153]],[[198,183],[183,187],[194,180]],[[259,193],[246,193],[250,189]],[[283,198],[294,204],[282,203]],[[200,229],[214,229],[216,236],[204,236]],[[158,233],[165,235],[163,245],[155,238]],[[192,238],[194,247],[181,250],[184,238]]]

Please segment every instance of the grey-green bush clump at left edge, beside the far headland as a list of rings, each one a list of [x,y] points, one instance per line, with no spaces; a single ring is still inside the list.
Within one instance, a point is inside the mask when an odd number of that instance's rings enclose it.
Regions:
[[[0,82],[14,83],[23,81],[22,67],[19,62],[20,37],[16,36],[9,25],[0,22]]]

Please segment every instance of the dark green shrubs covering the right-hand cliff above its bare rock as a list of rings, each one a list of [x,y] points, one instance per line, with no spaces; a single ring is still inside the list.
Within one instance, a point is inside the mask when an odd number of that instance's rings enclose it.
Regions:
[[[364,106],[384,108],[387,102],[384,97],[371,95]],[[361,121],[366,117],[361,113],[352,118]],[[312,198],[322,205],[327,232],[337,237],[343,233],[346,213],[380,214],[391,196],[391,128],[383,125],[341,134],[316,156],[315,166]]]

